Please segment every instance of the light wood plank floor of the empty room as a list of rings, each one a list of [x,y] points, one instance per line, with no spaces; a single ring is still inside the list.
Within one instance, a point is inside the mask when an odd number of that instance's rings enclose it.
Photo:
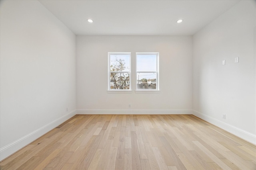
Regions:
[[[256,146],[193,115],[75,115],[2,170],[256,170]]]

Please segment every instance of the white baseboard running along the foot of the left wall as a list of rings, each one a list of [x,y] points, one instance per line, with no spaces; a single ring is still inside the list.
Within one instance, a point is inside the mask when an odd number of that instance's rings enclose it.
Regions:
[[[55,127],[57,127],[58,125],[60,125],[64,121],[70,119],[74,115],[76,115],[76,110],[71,111],[70,113],[68,113],[68,114],[66,114],[66,115],[48,123],[47,125],[44,125],[43,127],[41,127],[39,129],[29,133],[28,135],[10,143],[9,145],[6,145],[6,146],[2,147],[0,149],[0,161],[7,158],[8,156],[13,154],[14,152],[22,149],[23,147],[30,144],[31,142],[33,142],[37,138],[41,137],[42,135],[44,135],[48,131],[54,129]]]

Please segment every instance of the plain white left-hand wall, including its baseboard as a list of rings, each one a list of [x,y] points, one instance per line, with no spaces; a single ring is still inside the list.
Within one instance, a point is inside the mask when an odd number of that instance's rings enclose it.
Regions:
[[[2,160],[75,114],[76,36],[32,0],[1,0],[0,34]]]

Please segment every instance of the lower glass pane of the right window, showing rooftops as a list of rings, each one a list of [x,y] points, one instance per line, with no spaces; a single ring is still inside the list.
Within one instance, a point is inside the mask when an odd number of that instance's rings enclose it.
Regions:
[[[138,90],[156,90],[156,73],[146,72],[137,73],[137,89]]]

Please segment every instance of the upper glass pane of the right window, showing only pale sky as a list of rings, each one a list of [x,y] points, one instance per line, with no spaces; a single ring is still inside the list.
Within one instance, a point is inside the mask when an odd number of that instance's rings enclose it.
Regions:
[[[137,71],[156,71],[156,55],[137,55]]]

